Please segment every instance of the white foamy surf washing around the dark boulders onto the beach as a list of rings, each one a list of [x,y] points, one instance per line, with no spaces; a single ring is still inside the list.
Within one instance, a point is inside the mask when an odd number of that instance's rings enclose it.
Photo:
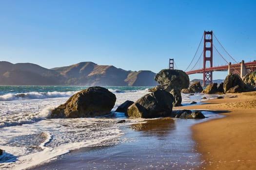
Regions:
[[[113,92],[117,97],[113,111],[126,100],[135,102],[149,93],[115,89]],[[123,134],[119,127],[124,124],[116,123],[117,119],[47,119],[54,107],[74,93],[29,92],[0,96],[0,149],[5,150],[4,159],[0,157],[0,169],[26,169],[74,149],[119,142]],[[183,103],[191,102],[191,98],[197,102],[201,97],[182,94]],[[137,121],[142,119],[126,123]]]

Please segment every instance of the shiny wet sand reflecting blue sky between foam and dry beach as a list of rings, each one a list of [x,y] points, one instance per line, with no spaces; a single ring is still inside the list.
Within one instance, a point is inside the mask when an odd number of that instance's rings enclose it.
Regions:
[[[30,170],[195,170],[200,154],[190,128],[201,121],[161,118],[124,125],[118,144],[74,150]]]

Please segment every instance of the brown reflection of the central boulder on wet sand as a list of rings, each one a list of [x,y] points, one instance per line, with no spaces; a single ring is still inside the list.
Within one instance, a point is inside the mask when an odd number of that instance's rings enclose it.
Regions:
[[[130,125],[130,128],[146,133],[147,136],[168,136],[176,129],[175,121],[172,118],[149,119],[145,123]]]

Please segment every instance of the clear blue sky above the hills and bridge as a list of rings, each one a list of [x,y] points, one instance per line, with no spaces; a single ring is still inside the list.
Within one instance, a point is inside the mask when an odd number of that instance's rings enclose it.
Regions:
[[[174,58],[185,70],[203,31],[213,30],[248,62],[256,59],[255,9],[255,0],[0,0],[0,61],[45,68],[92,61],[157,73]]]

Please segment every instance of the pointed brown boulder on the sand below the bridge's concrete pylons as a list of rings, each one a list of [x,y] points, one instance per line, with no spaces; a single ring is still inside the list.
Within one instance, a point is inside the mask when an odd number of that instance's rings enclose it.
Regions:
[[[246,92],[253,90],[246,85],[237,74],[230,74],[225,78],[223,89],[226,93]]]

